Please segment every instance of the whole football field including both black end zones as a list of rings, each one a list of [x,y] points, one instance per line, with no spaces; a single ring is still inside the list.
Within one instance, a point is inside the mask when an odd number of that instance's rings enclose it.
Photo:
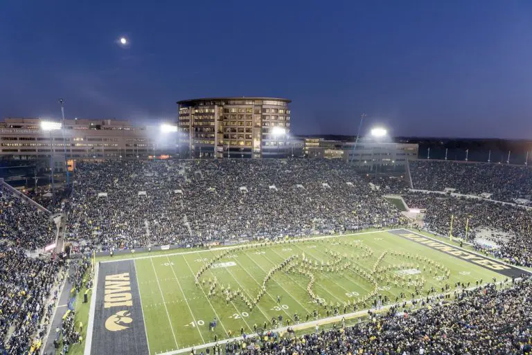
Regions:
[[[137,255],[99,264],[85,354],[169,355],[242,331],[312,331],[522,272],[409,230]]]

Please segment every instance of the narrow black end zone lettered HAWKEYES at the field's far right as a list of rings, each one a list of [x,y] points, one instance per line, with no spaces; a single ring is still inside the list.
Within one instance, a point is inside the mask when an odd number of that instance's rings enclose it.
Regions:
[[[437,239],[433,239],[430,237],[426,237],[425,235],[412,232],[411,230],[396,229],[388,230],[388,232],[409,239],[412,242],[423,244],[424,246],[435,249],[437,251],[441,251],[442,253],[458,257],[461,260],[465,260],[466,262],[470,262],[483,268],[487,268],[490,271],[500,273],[504,276],[520,277],[523,274],[529,273],[529,271],[524,271],[521,268],[516,268],[515,266],[511,266],[509,264],[506,264],[505,262],[499,262],[498,260],[492,259],[490,257],[485,257],[478,253],[472,253],[463,248],[458,248],[456,246],[452,246],[451,244],[440,242]]]

